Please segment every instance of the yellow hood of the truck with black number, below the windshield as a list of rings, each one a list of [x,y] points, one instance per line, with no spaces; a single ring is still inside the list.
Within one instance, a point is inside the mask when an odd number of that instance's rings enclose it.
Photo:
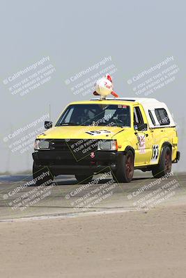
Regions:
[[[37,139],[111,139],[123,130],[118,126],[54,126]]]

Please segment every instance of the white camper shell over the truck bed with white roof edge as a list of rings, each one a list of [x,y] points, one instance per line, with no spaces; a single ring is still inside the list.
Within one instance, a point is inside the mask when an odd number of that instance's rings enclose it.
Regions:
[[[97,98],[94,98],[91,100],[95,100],[95,99],[100,99],[100,98],[97,97]],[[169,108],[166,106],[166,104],[164,104],[164,102],[158,101],[157,99],[153,99],[153,98],[151,99],[148,97],[117,97],[117,98],[114,98],[114,97],[109,98],[108,97],[108,98],[106,98],[106,100],[134,101],[134,102],[141,104],[144,107],[144,111],[146,112],[146,116],[148,118],[148,123],[149,123],[150,128],[175,126],[175,123],[173,121],[173,117],[169,111]],[[158,122],[157,116],[155,114],[155,109],[157,109],[157,108],[164,108],[166,110],[166,113],[170,120],[170,124],[161,125],[160,122]],[[153,115],[155,124],[153,124],[152,120],[150,119],[149,111],[151,111],[151,113]]]

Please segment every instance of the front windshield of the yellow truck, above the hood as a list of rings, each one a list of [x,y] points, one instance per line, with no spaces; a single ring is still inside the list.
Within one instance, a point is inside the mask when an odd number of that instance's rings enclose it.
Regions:
[[[72,104],[66,108],[56,126],[130,126],[130,106]]]

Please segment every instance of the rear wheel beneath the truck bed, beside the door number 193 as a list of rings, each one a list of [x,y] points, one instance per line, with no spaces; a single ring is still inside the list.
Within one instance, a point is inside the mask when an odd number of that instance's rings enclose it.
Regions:
[[[165,174],[171,172],[172,158],[171,148],[169,146],[163,147],[162,154],[160,157],[160,163],[153,167],[152,174],[155,178],[164,177]]]

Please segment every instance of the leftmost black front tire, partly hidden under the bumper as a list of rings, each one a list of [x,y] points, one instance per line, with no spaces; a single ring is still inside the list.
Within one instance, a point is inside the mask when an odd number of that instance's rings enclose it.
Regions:
[[[40,179],[40,177],[42,177],[42,175],[44,175],[45,177],[43,177],[43,179]],[[48,167],[45,167],[45,166],[38,167],[38,166],[36,166],[36,163],[33,162],[33,179],[36,180],[36,186],[41,186],[42,183],[45,183],[49,180],[51,180],[51,182],[52,182],[54,179],[54,176],[52,176]]]

